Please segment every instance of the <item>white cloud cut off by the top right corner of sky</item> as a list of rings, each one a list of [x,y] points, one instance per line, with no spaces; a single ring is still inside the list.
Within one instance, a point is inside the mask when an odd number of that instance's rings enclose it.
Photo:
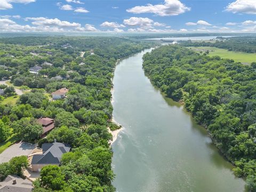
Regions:
[[[256,1],[236,0],[235,2],[228,4],[226,11],[232,13],[256,14]]]

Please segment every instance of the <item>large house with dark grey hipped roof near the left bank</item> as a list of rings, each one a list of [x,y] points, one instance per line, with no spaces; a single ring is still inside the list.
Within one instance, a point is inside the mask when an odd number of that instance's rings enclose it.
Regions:
[[[46,165],[60,165],[62,154],[70,151],[70,146],[60,142],[44,143],[42,145],[43,154],[33,155],[31,161],[31,171],[41,171]]]

